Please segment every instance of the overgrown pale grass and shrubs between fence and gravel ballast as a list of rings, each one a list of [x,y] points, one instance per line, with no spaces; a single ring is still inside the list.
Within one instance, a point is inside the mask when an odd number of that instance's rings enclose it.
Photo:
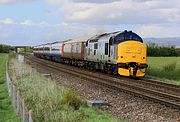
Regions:
[[[35,121],[119,122],[99,109],[87,107],[71,89],[43,77],[29,65],[11,60],[12,78]]]

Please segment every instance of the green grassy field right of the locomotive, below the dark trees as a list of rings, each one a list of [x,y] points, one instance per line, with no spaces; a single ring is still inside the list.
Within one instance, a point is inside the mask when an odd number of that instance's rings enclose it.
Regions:
[[[147,75],[180,83],[180,57],[148,57]]]

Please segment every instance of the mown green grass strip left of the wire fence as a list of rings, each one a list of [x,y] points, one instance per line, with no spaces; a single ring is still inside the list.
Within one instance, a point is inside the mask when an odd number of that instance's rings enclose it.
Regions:
[[[7,59],[7,54],[0,53],[0,122],[19,122],[20,119],[14,112],[5,81]]]

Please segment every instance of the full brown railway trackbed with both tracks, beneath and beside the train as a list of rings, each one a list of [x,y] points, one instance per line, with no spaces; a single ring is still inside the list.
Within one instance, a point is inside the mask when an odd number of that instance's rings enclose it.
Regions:
[[[99,72],[94,73],[77,67],[39,59],[34,56],[25,56],[25,58],[32,63],[81,77],[90,82],[180,110],[180,86],[151,80],[134,80],[129,78],[112,77],[107,74]]]

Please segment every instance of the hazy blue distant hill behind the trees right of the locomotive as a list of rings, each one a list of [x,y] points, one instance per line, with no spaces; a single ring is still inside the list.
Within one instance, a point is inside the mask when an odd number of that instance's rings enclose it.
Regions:
[[[158,45],[173,45],[180,48],[180,37],[171,38],[144,38],[146,43],[155,42]]]

